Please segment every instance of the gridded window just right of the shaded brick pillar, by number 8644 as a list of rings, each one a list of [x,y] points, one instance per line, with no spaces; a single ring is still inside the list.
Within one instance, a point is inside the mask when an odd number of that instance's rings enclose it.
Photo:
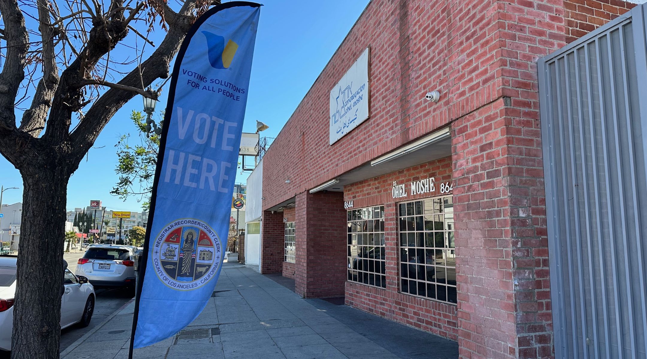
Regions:
[[[347,212],[348,280],[386,287],[384,206]]]

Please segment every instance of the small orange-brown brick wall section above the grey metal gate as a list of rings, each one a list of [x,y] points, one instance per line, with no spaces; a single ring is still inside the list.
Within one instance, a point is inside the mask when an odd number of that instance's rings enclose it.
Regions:
[[[564,0],[566,42],[588,34],[633,6],[636,4],[622,0]]]

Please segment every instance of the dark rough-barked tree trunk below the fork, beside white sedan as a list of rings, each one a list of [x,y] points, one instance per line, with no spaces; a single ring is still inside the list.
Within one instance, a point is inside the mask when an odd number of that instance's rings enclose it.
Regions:
[[[69,169],[45,163],[20,169],[23,214],[17,263],[12,359],[58,359],[63,238]]]

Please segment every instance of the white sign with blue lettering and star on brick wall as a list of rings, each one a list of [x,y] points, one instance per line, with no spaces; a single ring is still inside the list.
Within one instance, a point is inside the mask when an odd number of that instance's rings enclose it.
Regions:
[[[330,144],[351,132],[369,116],[369,49],[348,69],[330,90]]]

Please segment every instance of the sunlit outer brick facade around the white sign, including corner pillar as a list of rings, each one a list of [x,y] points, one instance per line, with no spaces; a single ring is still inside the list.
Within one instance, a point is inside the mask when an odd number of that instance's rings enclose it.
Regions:
[[[299,221],[309,215],[302,212],[311,203],[308,189],[450,125],[459,356],[552,358],[536,60],[630,6],[616,0],[441,0],[432,6],[428,0],[373,0],[265,155],[265,208],[296,194]],[[329,146],[329,91],[367,46],[371,118]],[[439,103],[422,99],[435,89]],[[373,191],[370,185],[364,190]],[[367,202],[360,198],[355,207]],[[311,239],[302,238],[307,258]],[[308,268],[299,265],[297,282]],[[303,274],[303,287],[311,278]],[[410,316],[411,303],[404,314],[395,313],[404,305],[388,307],[399,301],[397,293],[349,286],[349,300],[365,310]],[[377,306],[380,298],[384,308]]]

